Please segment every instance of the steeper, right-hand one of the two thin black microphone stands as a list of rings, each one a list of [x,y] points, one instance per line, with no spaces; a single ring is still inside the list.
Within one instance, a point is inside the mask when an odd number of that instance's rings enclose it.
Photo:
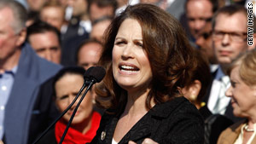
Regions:
[[[59,144],[61,144],[62,141],[64,141],[64,138],[65,138],[65,136],[66,136],[66,134],[67,134],[67,130],[68,130],[68,128],[70,127],[70,125],[71,125],[71,123],[72,123],[72,121],[73,121],[73,118],[74,118],[75,113],[77,112],[77,110],[78,110],[78,108],[79,108],[81,102],[84,100],[85,95],[87,94],[87,92],[89,91],[89,89],[91,88],[91,86],[92,86],[93,84],[95,84],[95,83],[96,83],[95,80],[92,79],[91,82],[90,82],[90,84],[89,84],[89,86],[87,87],[87,89],[85,89],[84,94],[82,95],[81,99],[79,100],[78,105],[77,105],[77,106],[75,107],[75,109],[73,110],[72,116],[71,116],[71,118],[69,119],[69,121],[68,121],[68,123],[67,123],[66,130],[64,131],[63,135],[61,136],[61,141],[59,142]]]

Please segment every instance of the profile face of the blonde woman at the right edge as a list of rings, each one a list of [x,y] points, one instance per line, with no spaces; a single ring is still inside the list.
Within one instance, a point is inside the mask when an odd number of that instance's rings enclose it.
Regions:
[[[245,84],[239,76],[239,66],[232,69],[230,73],[231,86],[226,95],[231,97],[233,113],[237,117],[248,118],[256,111],[256,87]]]

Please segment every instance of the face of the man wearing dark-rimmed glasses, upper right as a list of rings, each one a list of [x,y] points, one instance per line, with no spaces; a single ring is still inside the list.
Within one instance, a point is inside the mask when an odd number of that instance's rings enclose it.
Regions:
[[[218,63],[229,64],[247,50],[247,17],[245,14],[218,14],[213,28],[213,49]]]

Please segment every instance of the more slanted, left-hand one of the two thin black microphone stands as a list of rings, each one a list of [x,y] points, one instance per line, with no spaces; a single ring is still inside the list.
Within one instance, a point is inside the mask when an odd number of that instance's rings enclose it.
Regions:
[[[91,85],[91,83],[90,83],[90,85]],[[90,85],[89,85],[89,86],[90,86]],[[38,143],[38,141],[49,131],[49,129],[50,129],[53,125],[55,125],[55,124],[57,123],[57,121],[60,120],[61,117],[62,117],[64,114],[67,113],[67,111],[70,109],[70,107],[73,106],[73,104],[75,103],[75,101],[78,100],[79,95],[81,95],[81,93],[82,93],[82,91],[84,90],[85,87],[86,87],[86,82],[84,82],[82,88],[79,90],[79,94],[76,95],[76,97],[73,99],[72,103],[66,108],[66,110],[65,110],[64,112],[61,113],[61,115],[60,115],[58,118],[55,119],[55,121],[54,121],[52,124],[49,125],[49,127],[48,127],[46,130],[44,130],[44,132],[42,133],[42,135],[40,135],[40,136],[38,137],[38,139],[33,142],[33,144]],[[90,86],[90,87],[91,87],[91,86]],[[87,91],[88,91],[88,90],[87,90]]]

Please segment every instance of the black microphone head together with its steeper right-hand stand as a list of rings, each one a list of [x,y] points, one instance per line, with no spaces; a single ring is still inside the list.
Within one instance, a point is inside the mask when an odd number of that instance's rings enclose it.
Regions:
[[[70,127],[70,125],[72,124],[74,115],[77,112],[81,102],[84,100],[84,96],[87,94],[87,92],[89,91],[89,89],[92,87],[93,84],[101,82],[102,79],[106,75],[105,69],[101,66],[91,66],[86,72],[87,72],[87,75],[84,74],[84,81],[87,81],[90,84],[87,87],[87,89],[85,89],[85,92],[82,95],[81,99],[79,100],[78,105],[73,110],[72,116],[67,123],[66,129],[65,129],[63,135],[61,136],[61,141],[59,142],[59,144],[61,144],[62,141],[64,141],[65,135],[67,134],[67,130]]]

